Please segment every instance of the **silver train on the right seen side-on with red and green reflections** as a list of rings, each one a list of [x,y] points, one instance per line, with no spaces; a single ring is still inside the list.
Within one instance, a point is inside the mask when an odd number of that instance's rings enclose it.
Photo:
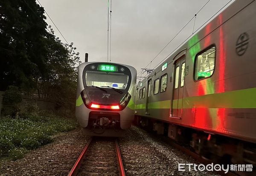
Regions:
[[[141,80],[135,122],[207,159],[255,167],[255,17],[255,0],[236,0]]]

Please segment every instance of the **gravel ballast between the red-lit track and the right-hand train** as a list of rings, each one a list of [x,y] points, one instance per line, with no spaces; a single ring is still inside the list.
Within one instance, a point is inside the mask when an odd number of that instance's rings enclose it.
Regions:
[[[200,164],[138,127],[131,127],[119,148],[126,176],[216,176],[206,171],[178,171],[178,163]]]

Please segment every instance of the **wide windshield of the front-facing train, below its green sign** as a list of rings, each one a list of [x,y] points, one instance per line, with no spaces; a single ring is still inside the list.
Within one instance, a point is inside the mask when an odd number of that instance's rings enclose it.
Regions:
[[[87,86],[113,87],[126,89],[129,76],[124,73],[86,71],[85,80]]]

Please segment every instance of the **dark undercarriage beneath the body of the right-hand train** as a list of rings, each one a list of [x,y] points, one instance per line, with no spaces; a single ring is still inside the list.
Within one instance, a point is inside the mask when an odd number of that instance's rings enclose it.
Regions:
[[[256,144],[202,130],[135,116],[134,123],[171,140],[218,164],[252,164],[256,167]]]

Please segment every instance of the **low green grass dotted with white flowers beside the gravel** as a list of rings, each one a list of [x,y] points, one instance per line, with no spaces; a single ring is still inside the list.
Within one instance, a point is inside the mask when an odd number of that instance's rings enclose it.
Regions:
[[[28,150],[52,142],[52,135],[75,127],[74,119],[56,115],[23,112],[18,118],[3,118],[0,120],[0,157],[21,159]]]

